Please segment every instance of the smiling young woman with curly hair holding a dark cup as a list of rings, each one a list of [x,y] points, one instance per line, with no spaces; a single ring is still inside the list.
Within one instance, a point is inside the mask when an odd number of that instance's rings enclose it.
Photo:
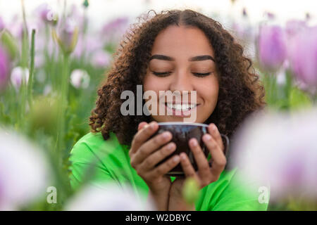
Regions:
[[[244,118],[265,106],[259,76],[232,35],[201,13],[162,11],[132,27],[115,56],[89,118],[92,131],[71,151],[71,185],[76,188],[90,176],[95,184],[132,186],[137,195],[149,194],[158,210],[266,210],[258,190],[237,181],[237,168],[225,167],[228,158],[220,134],[232,139]],[[209,124],[203,141],[212,167],[196,139],[189,140],[189,146],[197,172],[186,154],[156,166],[176,148],[170,132],[151,138],[157,122],[180,122],[185,115],[123,115],[125,99],[120,96],[126,90],[137,96],[137,85],[157,96],[159,91],[196,91],[196,103],[186,110],[195,108],[194,122]],[[157,101],[158,108],[173,107]],[[194,177],[201,188],[196,203],[185,208],[180,207],[185,178],[166,176],[179,163],[185,177]]]

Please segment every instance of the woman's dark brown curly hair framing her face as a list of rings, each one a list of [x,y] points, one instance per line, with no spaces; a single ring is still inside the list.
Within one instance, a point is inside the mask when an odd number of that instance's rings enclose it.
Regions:
[[[151,16],[154,12],[154,16]],[[143,23],[140,23],[143,19]],[[111,70],[101,82],[96,108],[89,117],[92,132],[101,131],[104,139],[112,131],[121,144],[130,146],[139,122],[151,122],[151,115],[122,115],[122,91],[130,90],[137,96],[137,84],[142,84],[147,73],[151,49],[156,36],[170,25],[197,27],[204,32],[215,52],[216,68],[220,73],[218,103],[206,120],[213,122],[221,134],[231,138],[247,115],[264,108],[265,91],[252,62],[243,48],[220,23],[192,10],[171,10],[156,13],[151,10],[139,17],[123,36],[113,54]],[[144,100],[143,100],[144,103]],[[135,107],[136,108],[136,107]]]

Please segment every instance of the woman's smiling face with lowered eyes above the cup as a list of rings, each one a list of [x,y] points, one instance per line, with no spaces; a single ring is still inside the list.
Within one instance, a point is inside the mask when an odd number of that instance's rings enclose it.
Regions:
[[[216,108],[219,91],[214,58],[209,40],[198,28],[170,26],[159,33],[154,41],[147,75],[143,81],[144,91],[155,91],[158,96],[156,100],[151,100],[157,101],[158,106],[157,113],[151,115],[154,120],[184,122],[185,118],[191,117],[191,113],[194,115],[194,110],[197,113],[191,122],[203,123],[208,119]],[[189,104],[185,104],[184,98],[173,98],[170,101],[167,97],[163,97],[166,104],[160,104],[162,92],[160,94],[159,91],[180,93],[180,96],[185,94],[182,91],[188,91]],[[196,91],[197,105],[192,104],[194,98],[190,95],[191,91]],[[190,105],[193,108],[189,108]],[[165,112],[163,115],[159,115],[160,108]],[[168,111],[173,115],[168,115]]]

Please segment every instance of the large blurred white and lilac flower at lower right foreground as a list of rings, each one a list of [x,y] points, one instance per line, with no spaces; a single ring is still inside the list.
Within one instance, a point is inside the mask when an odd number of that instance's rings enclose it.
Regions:
[[[258,113],[237,131],[232,162],[246,179],[268,181],[273,200],[317,200],[316,134],[317,108]]]

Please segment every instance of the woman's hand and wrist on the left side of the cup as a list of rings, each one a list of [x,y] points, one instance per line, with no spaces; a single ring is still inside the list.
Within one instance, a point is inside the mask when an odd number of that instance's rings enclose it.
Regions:
[[[131,166],[135,168],[137,174],[149,186],[149,193],[154,198],[158,209],[167,210],[171,182],[166,173],[178,165],[180,157],[175,155],[155,167],[157,163],[161,162],[176,149],[175,143],[168,143],[172,139],[172,134],[169,131],[157,134],[149,139],[158,128],[157,122],[151,122],[150,124],[141,122],[137,134],[132,140],[129,155]]]

